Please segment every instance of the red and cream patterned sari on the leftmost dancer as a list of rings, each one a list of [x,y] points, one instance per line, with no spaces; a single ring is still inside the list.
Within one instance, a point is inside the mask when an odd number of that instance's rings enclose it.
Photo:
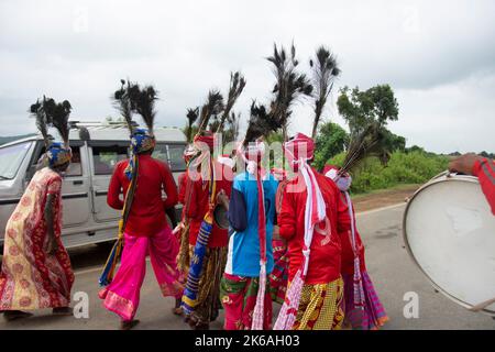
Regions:
[[[62,239],[62,177],[48,167],[34,174],[14,212],[4,239],[0,274],[0,309],[32,310],[68,307],[74,273]],[[58,251],[46,253],[44,217],[48,195],[55,196],[54,232]]]

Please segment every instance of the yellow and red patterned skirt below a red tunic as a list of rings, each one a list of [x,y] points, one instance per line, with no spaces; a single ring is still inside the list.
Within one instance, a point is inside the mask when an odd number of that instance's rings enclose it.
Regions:
[[[305,285],[294,330],[340,330],[344,318],[343,280]]]

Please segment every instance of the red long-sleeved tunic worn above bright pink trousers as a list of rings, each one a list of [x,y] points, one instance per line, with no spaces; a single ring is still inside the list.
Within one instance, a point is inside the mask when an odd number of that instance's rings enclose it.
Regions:
[[[120,195],[130,184],[124,175],[128,165],[129,160],[119,162],[110,180],[107,202],[113,209],[123,208]],[[166,200],[162,199],[162,190],[165,190]],[[147,237],[160,232],[168,227],[165,209],[176,204],[177,187],[168,166],[151,155],[139,155],[138,185],[125,232],[135,237]]]

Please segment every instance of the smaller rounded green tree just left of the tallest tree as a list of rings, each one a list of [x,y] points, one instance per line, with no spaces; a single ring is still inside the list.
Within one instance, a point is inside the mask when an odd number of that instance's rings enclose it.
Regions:
[[[320,125],[316,138],[314,165],[321,169],[332,156],[342,153],[349,145],[349,133],[338,123],[327,122]]]

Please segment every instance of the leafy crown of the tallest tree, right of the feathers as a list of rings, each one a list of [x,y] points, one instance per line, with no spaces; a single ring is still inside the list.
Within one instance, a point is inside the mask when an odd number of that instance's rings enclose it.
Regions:
[[[351,135],[360,133],[371,122],[385,127],[398,119],[398,103],[388,85],[378,85],[361,91],[343,87],[337,99],[339,113],[349,124]]]

